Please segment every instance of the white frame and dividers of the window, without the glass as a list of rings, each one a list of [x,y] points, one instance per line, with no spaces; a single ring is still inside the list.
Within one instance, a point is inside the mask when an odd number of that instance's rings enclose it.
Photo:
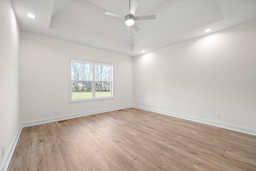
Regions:
[[[92,64],[92,80],[73,80],[72,79],[72,62],[79,62],[79,63],[84,63],[84,64]],[[109,66],[110,67],[110,81],[102,81],[102,80],[95,80],[95,65],[100,65],[100,66]],[[114,93],[113,93],[113,70],[114,70],[114,66],[110,65],[110,64],[100,64],[100,63],[95,63],[95,62],[87,62],[85,60],[78,60],[78,59],[72,59],[70,58],[69,61],[69,84],[70,84],[70,103],[74,103],[74,102],[82,102],[82,101],[95,101],[95,100],[104,100],[104,99],[114,99]],[[81,99],[72,99],[72,82],[73,81],[88,81],[88,82],[92,82],[92,97],[91,98],[81,98]],[[110,96],[108,97],[96,97],[96,86],[95,83],[96,82],[110,82]]]

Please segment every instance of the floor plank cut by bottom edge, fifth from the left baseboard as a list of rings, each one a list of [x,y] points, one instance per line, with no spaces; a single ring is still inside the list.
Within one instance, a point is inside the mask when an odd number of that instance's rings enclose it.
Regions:
[[[90,150],[84,145],[84,143],[74,146],[78,157],[86,171],[104,171],[100,163],[96,160]],[[90,162],[88,162],[90,161]]]

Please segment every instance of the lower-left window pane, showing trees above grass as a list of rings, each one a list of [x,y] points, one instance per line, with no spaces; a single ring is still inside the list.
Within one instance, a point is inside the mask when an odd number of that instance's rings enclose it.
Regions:
[[[72,99],[92,98],[92,82],[72,82]]]

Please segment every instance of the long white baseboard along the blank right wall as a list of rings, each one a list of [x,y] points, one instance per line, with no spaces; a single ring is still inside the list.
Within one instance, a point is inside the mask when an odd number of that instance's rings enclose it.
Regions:
[[[143,107],[143,106],[138,106],[138,105],[133,105],[133,107],[138,108],[138,109],[143,109],[143,110],[147,110],[147,111],[160,113],[160,114],[164,114],[164,115],[174,116],[174,117],[178,117],[178,118],[181,118],[181,119],[186,119],[186,120],[190,120],[190,121],[205,123],[207,125],[222,127],[222,128],[230,129],[230,130],[233,130],[233,131],[247,133],[247,134],[250,134],[250,135],[256,135],[256,129],[240,127],[240,126],[237,126],[237,125],[231,125],[231,124],[228,124],[228,123],[211,121],[211,120],[208,120],[208,119],[202,119],[202,118],[192,117],[192,116],[188,116],[188,115],[182,115],[182,114],[179,114],[179,113],[173,113],[173,112],[168,112],[168,111],[161,111],[161,110],[157,110],[157,109],[151,109],[151,108],[148,108],[148,107]]]

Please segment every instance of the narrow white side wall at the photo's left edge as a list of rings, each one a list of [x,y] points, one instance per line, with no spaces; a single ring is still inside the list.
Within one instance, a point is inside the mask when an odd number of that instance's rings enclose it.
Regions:
[[[20,28],[10,0],[0,0],[0,21],[0,166],[3,168],[20,126]]]

